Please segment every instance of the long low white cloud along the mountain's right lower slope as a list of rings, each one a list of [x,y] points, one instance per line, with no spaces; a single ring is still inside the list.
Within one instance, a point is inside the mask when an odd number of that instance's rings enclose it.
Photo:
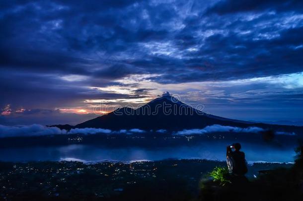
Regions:
[[[214,132],[232,132],[232,133],[258,133],[264,131],[264,129],[259,127],[248,127],[248,128],[239,128],[239,127],[230,127],[230,126],[222,126],[222,125],[212,125],[207,126],[204,129],[185,129],[183,131],[179,131],[176,134],[207,134]]]

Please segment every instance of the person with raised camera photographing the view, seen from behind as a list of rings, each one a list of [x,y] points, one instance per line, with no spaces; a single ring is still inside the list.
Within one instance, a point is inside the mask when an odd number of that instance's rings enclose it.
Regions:
[[[234,151],[232,151],[234,149]],[[227,167],[230,174],[235,176],[244,176],[247,173],[247,162],[245,153],[240,151],[241,144],[234,143],[227,146]]]

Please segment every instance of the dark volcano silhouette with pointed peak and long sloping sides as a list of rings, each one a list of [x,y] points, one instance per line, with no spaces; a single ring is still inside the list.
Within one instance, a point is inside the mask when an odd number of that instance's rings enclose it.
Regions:
[[[202,129],[215,124],[240,128],[255,126],[284,132],[302,133],[303,131],[303,127],[254,123],[209,115],[182,103],[170,95],[156,98],[138,109],[119,108],[76,126],[55,126],[67,130],[72,128],[102,128],[110,130],[136,128],[146,131],[159,129],[180,131],[183,129]]]

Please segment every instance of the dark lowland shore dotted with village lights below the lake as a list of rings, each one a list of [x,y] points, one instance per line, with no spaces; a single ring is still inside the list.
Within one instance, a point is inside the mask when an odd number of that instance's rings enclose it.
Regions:
[[[199,183],[226,162],[162,160],[83,164],[81,162],[0,163],[1,200],[200,200]],[[257,163],[260,169],[290,164]],[[284,171],[288,171],[285,169]],[[256,183],[257,184],[257,183]],[[204,189],[205,190],[205,189]],[[210,196],[210,192],[206,196]],[[217,197],[216,197],[217,199]]]

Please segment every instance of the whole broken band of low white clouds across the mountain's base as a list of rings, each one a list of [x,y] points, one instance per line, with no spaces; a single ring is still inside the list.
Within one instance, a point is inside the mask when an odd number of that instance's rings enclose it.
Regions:
[[[178,131],[173,134],[190,135],[190,134],[207,134],[215,132],[230,132],[230,133],[258,133],[265,131],[259,127],[230,127],[222,125],[207,126],[204,129],[189,129]],[[156,133],[167,133],[166,130],[160,129],[155,131]],[[143,134],[147,131],[141,129],[130,129],[112,131],[109,129],[95,129],[95,128],[84,128],[84,129],[72,129],[69,132],[66,130],[60,130],[57,127],[46,127],[39,124],[33,124],[29,126],[3,126],[0,125],[0,138],[1,137],[15,137],[15,136],[42,136],[42,135],[55,135],[55,134]],[[276,132],[276,134],[284,135],[296,135],[295,133]]]

